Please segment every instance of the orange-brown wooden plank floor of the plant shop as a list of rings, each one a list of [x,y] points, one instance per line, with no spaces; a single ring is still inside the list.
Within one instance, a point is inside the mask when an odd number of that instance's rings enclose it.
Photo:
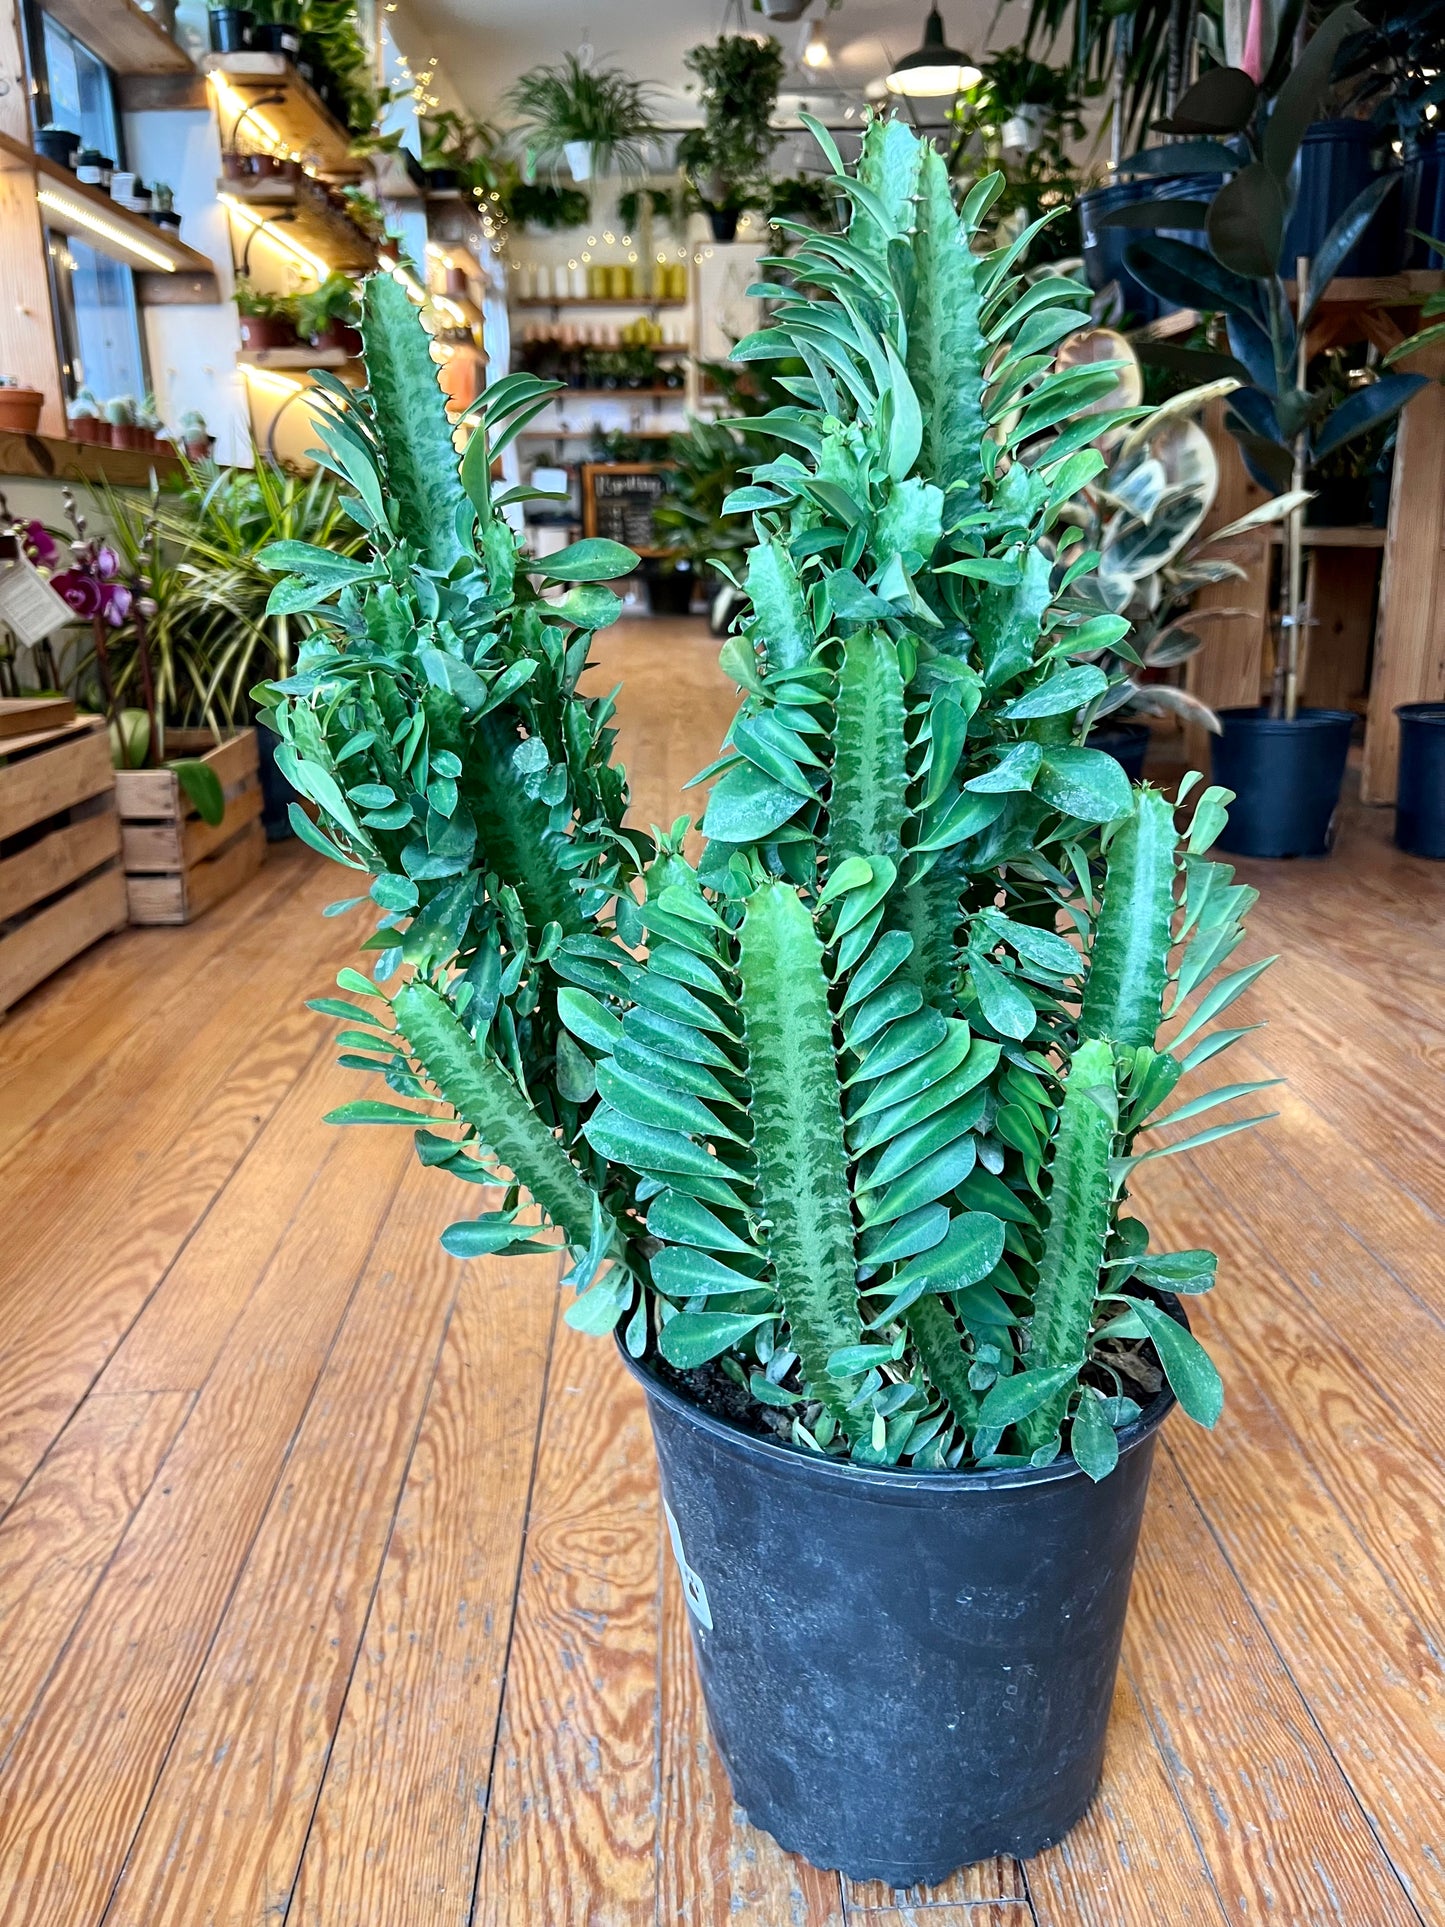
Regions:
[[[597,653],[669,823],[715,646]],[[911,1894],[734,1811],[640,1397],[547,1260],[453,1262],[476,1195],[320,1123],[345,877],[285,846],[35,992],[0,1027],[0,1921],[1445,1927],[1445,871],[1387,827],[1241,865],[1283,962],[1239,1075],[1283,1116],[1141,1187],[1220,1249],[1229,1399],[1166,1436],[1102,1792]]]

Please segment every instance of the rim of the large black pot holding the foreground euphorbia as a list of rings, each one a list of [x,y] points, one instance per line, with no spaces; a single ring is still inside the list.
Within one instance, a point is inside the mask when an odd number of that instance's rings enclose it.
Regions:
[[[1171,1291],[1156,1291],[1150,1295],[1164,1307],[1164,1310],[1169,1312],[1169,1316],[1177,1318],[1179,1324],[1189,1330],[1189,1314]],[[709,1438],[719,1439],[736,1451],[751,1453],[763,1461],[773,1461],[778,1466],[786,1465],[800,1478],[811,1480],[813,1484],[850,1486],[859,1497],[896,1499],[907,1505],[919,1503],[931,1491],[946,1497],[959,1497],[969,1491],[1008,1491],[1015,1486],[1050,1486],[1065,1478],[1087,1476],[1071,1453],[1060,1453],[1052,1465],[998,1466],[996,1470],[985,1472],[915,1472],[909,1466],[871,1466],[854,1465],[846,1459],[813,1457],[811,1453],[801,1453],[796,1447],[778,1445],[773,1439],[759,1438],[755,1432],[744,1432],[740,1426],[730,1424],[726,1418],[719,1418],[715,1412],[705,1412],[694,1399],[684,1397],[676,1387],[665,1384],[655,1372],[647,1370],[647,1364],[642,1359],[634,1359],[622,1343],[622,1333],[617,1330],[613,1332],[613,1343],[617,1345],[618,1359],[638,1380],[647,1397],[657,1399],[659,1405],[665,1405],[676,1418],[682,1418],[696,1432],[705,1432]],[[1123,1459],[1125,1453],[1135,1451],[1135,1447],[1152,1438],[1177,1403],[1179,1401],[1166,1380],[1162,1389],[1154,1393],[1139,1418],[1116,1432],[1119,1457]]]

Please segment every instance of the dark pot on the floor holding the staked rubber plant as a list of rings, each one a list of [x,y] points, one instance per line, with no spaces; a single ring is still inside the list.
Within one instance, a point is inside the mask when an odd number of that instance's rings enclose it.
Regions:
[[[1222,709],[1212,738],[1214,780],[1235,792],[1220,848],[1235,856],[1324,856],[1333,842],[1354,717],[1300,709],[1293,723],[1268,709]]]

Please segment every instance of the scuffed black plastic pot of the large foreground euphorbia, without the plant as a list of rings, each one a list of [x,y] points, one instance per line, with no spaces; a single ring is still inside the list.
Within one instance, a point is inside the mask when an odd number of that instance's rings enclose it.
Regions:
[[[707,1717],[748,1819],[815,1867],[890,1887],[1060,1840],[1098,1786],[1173,1395],[1119,1432],[1094,1486],[1073,1459],[815,1459],[622,1359],[647,1393]]]

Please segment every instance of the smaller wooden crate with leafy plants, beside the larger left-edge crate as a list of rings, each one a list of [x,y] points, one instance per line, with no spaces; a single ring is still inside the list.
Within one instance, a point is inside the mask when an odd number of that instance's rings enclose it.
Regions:
[[[116,773],[131,923],[191,923],[266,858],[254,728],[220,744],[208,730],[168,730],[166,753],[200,757],[216,771],[225,815],[204,823],[173,769]]]

